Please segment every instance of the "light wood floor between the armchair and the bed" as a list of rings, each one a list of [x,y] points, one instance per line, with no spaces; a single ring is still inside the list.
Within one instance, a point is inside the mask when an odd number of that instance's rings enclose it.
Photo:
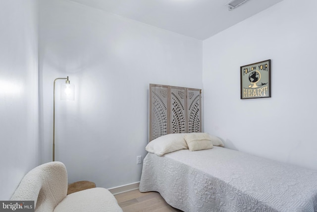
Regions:
[[[136,189],[114,197],[123,212],[181,212],[169,206],[158,192],[141,193]]]

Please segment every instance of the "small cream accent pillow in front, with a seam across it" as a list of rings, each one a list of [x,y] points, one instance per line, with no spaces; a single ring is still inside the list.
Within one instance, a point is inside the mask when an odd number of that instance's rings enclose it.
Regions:
[[[188,133],[184,135],[184,139],[190,151],[213,147],[210,135],[207,133]]]

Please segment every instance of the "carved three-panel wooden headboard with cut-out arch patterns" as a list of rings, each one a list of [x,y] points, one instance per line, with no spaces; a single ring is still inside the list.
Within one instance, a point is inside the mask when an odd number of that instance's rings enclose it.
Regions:
[[[150,84],[149,141],[202,129],[201,89]]]

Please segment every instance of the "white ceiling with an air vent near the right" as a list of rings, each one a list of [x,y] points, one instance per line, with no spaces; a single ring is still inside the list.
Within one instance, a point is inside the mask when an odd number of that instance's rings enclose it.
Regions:
[[[205,40],[282,0],[71,0],[168,31]]]

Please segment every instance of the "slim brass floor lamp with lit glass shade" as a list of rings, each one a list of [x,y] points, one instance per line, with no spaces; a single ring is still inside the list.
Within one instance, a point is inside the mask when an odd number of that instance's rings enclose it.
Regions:
[[[61,100],[74,100],[75,99],[75,86],[70,84],[67,78],[56,78],[54,80],[54,99],[53,99],[53,161],[55,161],[55,82],[58,79],[66,79],[65,83],[60,84],[60,99]]]

